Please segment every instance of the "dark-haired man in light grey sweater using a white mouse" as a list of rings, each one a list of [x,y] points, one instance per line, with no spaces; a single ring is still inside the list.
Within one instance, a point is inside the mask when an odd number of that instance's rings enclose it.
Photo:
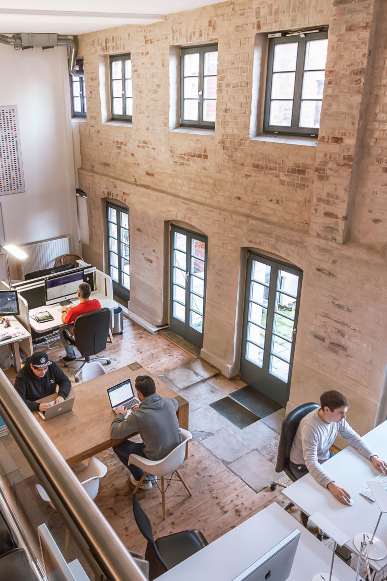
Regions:
[[[368,448],[350,425],[346,422],[348,401],[342,393],[335,390],[320,396],[320,408],[302,418],[290,450],[290,469],[296,479],[310,472],[313,478],[327,487],[342,504],[350,504],[350,495],[328,476],[321,462],[333,454],[330,447],[338,433],[353,446],[361,456],[370,458],[372,464],[382,474],[387,474],[387,463]]]

